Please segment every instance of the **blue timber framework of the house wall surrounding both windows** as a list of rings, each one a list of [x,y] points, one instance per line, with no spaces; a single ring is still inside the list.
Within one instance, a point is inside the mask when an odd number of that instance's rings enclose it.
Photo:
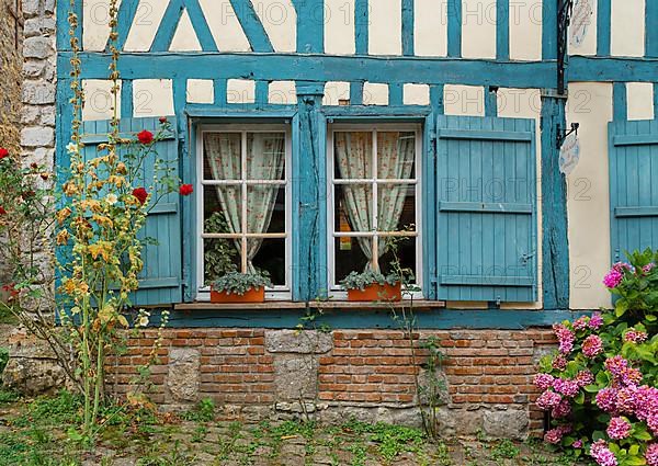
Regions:
[[[252,53],[224,53],[219,50],[212,37],[208,25],[203,18],[198,0],[173,0],[164,14],[160,30],[151,46],[151,52],[128,53],[122,52],[120,57],[120,71],[122,78],[122,115],[132,116],[133,99],[132,89],[135,79],[171,79],[173,81],[173,99],[177,113],[175,125],[181,136],[181,173],[184,182],[195,179],[195,163],[193,163],[195,147],[195,125],[202,120],[205,122],[239,121],[246,118],[280,120],[290,118],[293,125],[293,144],[295,154],[311,154],[311,157],[295,157],[293,167],[294,177],[308,183],[295,194],[294,235],[294,299],[311,300],[324,297],[322,284],[326,282],[327,238],[326,206],[319,203],[318,193],[324,193],[325,132],[327,120],[347,118],[379,118],[379,120],[415,120],[424,123],[424,154],[423,172],[430,173],[433,169],[435,157],[435,121],[443,114],[443,88],[445,84],[481,86],[485,88],[485,114],[496,116],[498,113],[495,88],[525,88],[541,89],[542,95],[542,203],[543,203],[543,316],[541,312],[530,310],[480,310],[477,317],[472,311],[436,311],[436,317],[423,317],[421,326],[479,326],[481,328],[496,328],[498,319],[502,318],[501,328],[515,328],[515,325],[546,325],[555,319],[567,317],[569,305],[569,262],[567,240],[566,215],[566,184],[564,175],[556,167],[557,143],[555,128],[559,124],[565,127],[565,95],[556,95],[556,57],[557,57],[557,2],[545,2],[543,11],[542,31],[542,59],[537,61],[510,60],[510,11],[507,2],[501,2],[497,8],[498,31],[496,35],[496,59],[463,59],[462,58],[462,2],[447,1],[447,57],[418,57],[415,56],[415,10],[413,0],[401,0],[401,56],[383,57],[368,55],[368,3],[367,0],[355,0],[354,7],[354,56],[324,55],[324,27],[317,21],[319,0],[293,0],[297,11],[296,53],[277,53],[268,37],[266,31],[259,20],[257,11],[249,0],[230,0],[245,34],[249,41]],[[647,2],[646,26],[646,57],[611,57],[611,0],[599,0],[598,18],[599,31],[597,34],[597,56],[572,56],[568,64],[568,80],[570,81],[603,81],[614,83],[614,118],[625,120],[626,114],[626,82],[655,83],[655,107],[658,115],[658,5]],[[138,8],[137,0],[125,0],[118,12],[118,49],[123,50],[133,20]],[[71,98],[70,64],[71,58],[67,16],[69,4],[58,2],[57,5],[57,110],[59,117],[56,123],[57,135],[57,164],[68,166],[68,155],[64,150],[70,139],[71,110],[68,102]],[[185,9],[192,21],[192,26],[202,46],[200,53],[166,52],[169,48],[175,27]],[[82,23],[82,2],[76,1],[73,13],[79,23]],[[317,16],[317,18],[316,18]],[[81,29],[76,33],[78,41],[82,39]],[[145,59],[147,58],[147,59]],[[80,54],[82,62],[81,79],[106,79],[110,55],[107,53],[83,52]],[[257,99],[254,104],[231,106],[226,101],[227,79],[252,79],[257,81]],[[186,104],[185,91],[189,79],[211,79],[214,81],[215,102],[209,105]],[[297,103],[295,105],[269,105],[268,81],[293,80],[297,86]],[[329,107],[322,106],[321,99],[324,84],[327,81],[347,81],[351,83],[350,106]],[[388,106],[364,106],[364,82],[385,82],[389,86]],[[430,87],[430,105],[413,106],[402,105],[405,83],[421,82]],[[184,110],[184,111],[183,111]],[[422,211],[427,225],[434,223],[434,209],[428,197],[434,192],[433,177],[424,180]],[[194,198],[183,201],[182,212],[186,228],[193,228],[195,221]],[[300,235],[299,231],[305,231]],[[310,235],[306,235],[310,231]],[[193,251],[194,239],[184,236],[183,254],[184,271],[194,270]],[[435,251],[432,241],[423,241],[423,257],[426,258],[426,283],[423,283],[427,297],[436,297],[436,283],[431,281],[435,276]],[[303,258],[307,258],[304,260]],[[325,258],[325,259],[322,259]],[[428,259],[429,258],[429,259]],[[302,280],[304,277],[304,280]],[[183,276],[185,297],[192,296],[196,289],[195,274],[186,273]],[[559,310],[561,309],[561,310]],[[177,311],[179,312],[179,311]],[[298,318],[298,310],[282,310],[282,316],[290,312]],[[198,317],[203,325],[214,322],[218,325],[222,319],[227,319],[229,325],[237,325],[239,317],[231,312],[212,312],[212,316],[202,314]],[[372,312],[371,312],[372,314]],[[376,327],[378,318],[375,314],[360,314],[352,318],[354,326]],[[243,311],[240,311],[245,316]],[[254,314],[258,317],[258,312]],[[342,319],[337,312],[331,319]],[[367,320],[366,319],[374,319]],[[253,317],[253,319],[257,319]],[[261,316],[262,317],[262,316]],[[363,317],[363,319],[362,319]],[[206,320],[207,319],[207,320]],[[274,317],[258,318],[249,321],[262,321],[268,325],[275,323]],[[260,319],[260,320],[259,320]],[[286,320],[287,319],[287,320]],[[277,321],[291,325],[292,317]],[[438,320],[436,320],[438,319]],[[510,319],[510,320],[508,320]],[[544,320],[546,319],[546,320]],[[349,319],[347,319],[349,320]],[[345,321],[347,321],[345,320]],[[174,322],[186,322],[185,319]],[[354,323],[361,322],[361,323]],[[219,323],[220,325],[220,323]],[[227,323],[224,323],[227,325]],[[385,326],[384,323],[382,323]],[[477,327],[480,328],[480,327]]]

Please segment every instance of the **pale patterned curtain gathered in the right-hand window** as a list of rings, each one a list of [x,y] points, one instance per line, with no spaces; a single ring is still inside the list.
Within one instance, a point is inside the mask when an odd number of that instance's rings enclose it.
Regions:
[[[400,133],[377,134],[377,206],[373,207],[373,184],[364,180],[363,184],[342,184],[343,201],[352,228],[356,231],[375,229],[373,208],[376,208],[378,231],[397,229],[407,184],[383,183],[381,180],[402,180],[411,178],[415,157],[415,138],[400,137]],[[372,133],[336,133],[336,159],[341,179],[373,178],[373,135]],[[359,246],[368,259],[367,268],[373,263],[373,243],[371,238],[358,237]],[[386,252],[385,239],[379,238],[377,255]],[[378,259],[377,258],[377,259]]]

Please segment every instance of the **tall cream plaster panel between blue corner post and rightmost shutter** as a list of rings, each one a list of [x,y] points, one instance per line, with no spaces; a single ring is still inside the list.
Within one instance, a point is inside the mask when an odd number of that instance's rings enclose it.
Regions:
[[[580,123],[580,161],[567,178],[570,307],[610,306],[601,280],[610,268],[608,123],[612,84],[569,84],[568,124]]]

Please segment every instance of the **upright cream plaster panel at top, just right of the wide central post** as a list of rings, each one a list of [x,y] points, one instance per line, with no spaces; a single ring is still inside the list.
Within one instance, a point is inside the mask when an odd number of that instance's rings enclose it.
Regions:
[[[354,0],[325,0],[325,53],[355,53],[354,3]]]

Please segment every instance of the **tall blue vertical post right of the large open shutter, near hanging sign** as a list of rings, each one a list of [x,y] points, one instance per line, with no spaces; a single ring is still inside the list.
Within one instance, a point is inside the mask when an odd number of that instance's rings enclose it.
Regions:
[[[566,127],[565,99],[542,96],[542,285],[545,309],[569,307],[567,183],[559,172],[557,126]]]

